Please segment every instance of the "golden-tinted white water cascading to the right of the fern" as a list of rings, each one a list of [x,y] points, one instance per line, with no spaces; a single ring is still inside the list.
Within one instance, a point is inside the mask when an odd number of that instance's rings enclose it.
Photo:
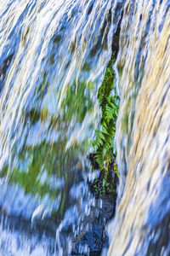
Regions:
[[[170,1],[128,0],[116,61],[120,186],[108,255],[170,255]]]

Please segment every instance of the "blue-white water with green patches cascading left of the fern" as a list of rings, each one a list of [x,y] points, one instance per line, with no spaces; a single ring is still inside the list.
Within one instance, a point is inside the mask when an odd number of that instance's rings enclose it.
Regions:
[[[67,255],[123,1],[0,3],[1,255]]]

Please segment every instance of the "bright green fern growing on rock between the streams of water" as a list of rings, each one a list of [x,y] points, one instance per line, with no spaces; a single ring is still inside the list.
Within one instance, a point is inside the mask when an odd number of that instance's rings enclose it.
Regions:
[[[99,106],[102,111],[102,118],[100,121],[101,130],[95,131],[96,137],[94,143],[95,159],[99,164],[99,168],[102,170],[105,168],[105,185],[108,186],[107,170],[111,164],[111,160],[115,159],[113,155],[113,141],[116,132],[116,119],[119,109],[119,98],[116,95],[116,89],[114,86],[115,73],[112,66],[115,62],[114,54],[111,57],[106,71],[105,78],[101,84],[98,92]],[[113,95],[111,96],[111,91]],[[117,167],[114,164],[114,170],[118,177]]]

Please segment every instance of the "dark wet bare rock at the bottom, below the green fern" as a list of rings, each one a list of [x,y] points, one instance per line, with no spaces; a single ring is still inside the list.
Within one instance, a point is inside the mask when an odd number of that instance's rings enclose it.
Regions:
[[[101,205],[102,200],[102,205]],[[91,214],[83,218],[84,230],[73,241],[71,255],[100,255],[103,247],[108,247],[108,237],[105,234],[105,224],[115,214],[116,194],[103,195],[96,200]],[[93,214],[94,213],[94,214]],[[86,230],[88,224],[88,230]],[[88,251],[85,252],[85,248]],[[84,250],[84,251],[83,251]]]

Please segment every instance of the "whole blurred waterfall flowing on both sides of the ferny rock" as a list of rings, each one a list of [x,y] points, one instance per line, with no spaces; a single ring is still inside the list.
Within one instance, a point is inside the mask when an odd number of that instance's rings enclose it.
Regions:
[[[170,255],[170,1],[1,0],[2,256],[68,255],[95,218],[87,154],[122,9],[108,254]]]

